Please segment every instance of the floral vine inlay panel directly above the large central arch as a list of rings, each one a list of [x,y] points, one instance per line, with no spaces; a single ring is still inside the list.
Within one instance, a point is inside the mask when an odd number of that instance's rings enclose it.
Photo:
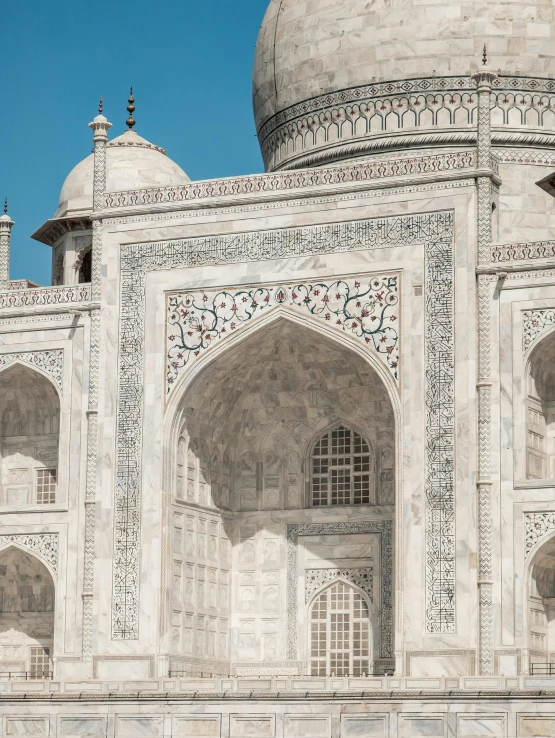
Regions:
[[[399,275],[168,296],[167,393],[185,367],[271,310],[309,314],[371,347],[398,379]]]

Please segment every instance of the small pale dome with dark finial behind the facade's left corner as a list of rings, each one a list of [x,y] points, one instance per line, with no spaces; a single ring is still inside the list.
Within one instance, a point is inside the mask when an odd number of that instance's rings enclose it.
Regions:
[[[94,155],[79,162],[66,178],[60,192],[55,218],[92,210]],[[106,192],[124,192],[143,187],[170,187],[190,182],[189,177],[161,149],[126,131],[106,146]]]

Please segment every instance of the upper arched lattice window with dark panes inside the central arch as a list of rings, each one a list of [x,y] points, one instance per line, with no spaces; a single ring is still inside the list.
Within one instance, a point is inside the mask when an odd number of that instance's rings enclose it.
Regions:
[[[312,452],[313,507],[374,504],[373,487],[364,438],[343,425],[322,436]]]

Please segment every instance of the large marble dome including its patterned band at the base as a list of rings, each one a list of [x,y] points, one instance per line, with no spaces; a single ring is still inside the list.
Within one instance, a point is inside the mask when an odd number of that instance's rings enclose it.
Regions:
[[[474,143],[472,74],[486,43],[488,67],[499,70],[494,144],[552,146],[554,14],[551,0],[501,7],[476,0],[445,7],[414,0],[314,6],[272,0],[253,74],[266,170]]]

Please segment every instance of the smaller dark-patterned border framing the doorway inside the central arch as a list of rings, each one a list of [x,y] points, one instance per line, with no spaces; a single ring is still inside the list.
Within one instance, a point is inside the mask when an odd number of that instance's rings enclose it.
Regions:
[[[345,533],[379,533],[381,539],[382,621],[381,658],[394,656],[393,638],[393,521],[369,520],[360,523],[303,523],[287,526],[287,658],[297,659],[297,620],[299,603],[298,544],[299,536],[341,535]]]

